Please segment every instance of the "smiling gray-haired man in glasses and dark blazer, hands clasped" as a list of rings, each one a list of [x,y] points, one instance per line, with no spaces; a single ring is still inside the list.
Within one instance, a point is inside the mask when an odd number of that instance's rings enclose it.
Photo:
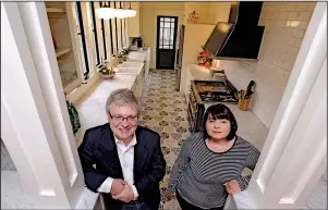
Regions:
[[[166,173],[159,135],[137,125],[137,100],[129,89],[113,91],[106,112],[109,124],[87,129],[78,147],[86,186],[101,193],[106,209],[157,210]]]

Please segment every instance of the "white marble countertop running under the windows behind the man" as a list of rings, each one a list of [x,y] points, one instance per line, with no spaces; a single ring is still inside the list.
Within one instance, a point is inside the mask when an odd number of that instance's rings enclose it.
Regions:
[[[129,58],[135,59],[137,62],[137,59],[145,59],[146,53],[144,53],[144,51],[130,52]],[[143,67],[144,64],[139,67],[135,67],[135,73],[117,74],[112,79],[100,81],[78,100],[76,109],[80,116],[81,128],[75,134],[76,147],[81,145],[86,129],[108,122],[105,111],[108,96],[119,88],[132,89]],[[85,188],[75,209],[94,209],[99,194],[95,194]]]

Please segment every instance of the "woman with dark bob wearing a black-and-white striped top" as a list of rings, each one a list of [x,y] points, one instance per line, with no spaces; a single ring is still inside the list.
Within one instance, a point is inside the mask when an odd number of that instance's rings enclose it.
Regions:
[[[172,168],[168,193],[177,195],[182,210],[223,209],[228,194],[247,187],[259,151],[236,136],[238,125],[224,104],[214,104],[204,115],[203,131],[189,137]]]

